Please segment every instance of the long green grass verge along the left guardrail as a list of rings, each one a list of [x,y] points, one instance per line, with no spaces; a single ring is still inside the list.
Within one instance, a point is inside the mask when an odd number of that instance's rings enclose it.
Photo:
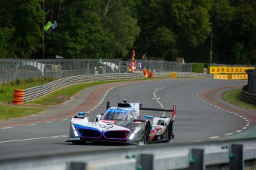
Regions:
[[[142,81],[147,79],[148,78],[140,78],[136,80],[123,81]],[[42,112],[47,105],[56,105],[68,101],[71,96],[76,95],[76,93],[88,87],[122,81],[96,81],[85,84],[76,84],[51,92],[49,95],[45,95],[42,98],[38,98],[34,101],[25,102],[24,105],[14,105],[11,103],[13,99],[13,89],[27,89],[33,86],[47,84],[49,82],[50,80],[43,79],[39,81],[16,81],[10,84],[3,84],[0,89],[0,120],[4,121],[12,118],[24,118],[29,115],[36,115],[39,112]],[[37,106],[27,106],[27,103],[32,105],[36,104]]]

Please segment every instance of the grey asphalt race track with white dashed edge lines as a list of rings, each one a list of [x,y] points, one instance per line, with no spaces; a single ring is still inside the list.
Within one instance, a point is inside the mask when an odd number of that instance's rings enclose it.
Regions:
[[[170,145],[254,137],[255,111],[241,109],[220,98],[222,92],[241,88],[246,83],[247,81],[200,78],[149,79],[93,86],[73,96],[70,101],[59,106],[49,106],[40,115],[0,122],[0,160],[127,147],[104,143],[76,146],[65,142],[68,140],[72,115],[88,112],[93,120],[96,115],[105,111],[106,101],[116,106],[124,98],[128,102],[141,102],[145,107],[171,109],[173,104],[177,105],[175,138]],[[143,111],[142,115],[160,116],[163,112]]]

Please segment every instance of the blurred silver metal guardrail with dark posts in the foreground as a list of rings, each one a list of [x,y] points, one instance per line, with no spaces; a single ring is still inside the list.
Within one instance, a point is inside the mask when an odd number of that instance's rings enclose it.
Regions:
[[[160,143],[90,152],[81,150],[0,160],[0,169],[240,170],[256,165],[255,143],[256,138],[252,138],[199,143]]]

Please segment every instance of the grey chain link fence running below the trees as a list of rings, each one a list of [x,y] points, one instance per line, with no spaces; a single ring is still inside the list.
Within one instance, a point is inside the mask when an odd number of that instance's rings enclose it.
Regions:
[[[192,64],[172,61],[137,60],[137,72],[192,72]],[[0,59],[0,84],[26,78],[66,78],[75,75],[96,75],[128,72],[130,61],[121,59]]]

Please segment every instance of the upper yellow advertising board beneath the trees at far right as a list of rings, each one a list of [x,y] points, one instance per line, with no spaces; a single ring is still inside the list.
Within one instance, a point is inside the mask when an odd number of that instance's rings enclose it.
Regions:
[[[210,74],[245,74],[247,69],[255,67],[210,67]]]

